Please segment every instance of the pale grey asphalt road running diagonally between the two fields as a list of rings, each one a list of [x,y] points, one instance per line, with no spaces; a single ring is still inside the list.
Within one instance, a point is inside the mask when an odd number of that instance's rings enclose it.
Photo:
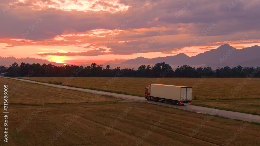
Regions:
[[[9,77],[2,77],[2,78],[9,78]],[[111,95],[111,96],[123,98],[123,99],[131,99],[131,100],[136,100],[136,101],[141,101],[141,102],[148,102],[148,103],[153,103],[153,104],[157,104],[157,105],[164,105],[164,106],[169,106],[169,107],[174,107],[174,108],[179,108],[179,109],[195,111],[197,113],[205,113],[205,114],[213,114],[213,115],[218,114],[219,116],[228,117],[228,118],[232,118],[232,119],[239,119],[239,120],[244,120],[244,121],[250,120],[251,122],[259,122],[260,123],[260,116],[257,116],[257,115],[231,112],[231,111],[226,111],[226,110],[219,110],[219,109],[200,107],[200,106],[194,106],[194,105],[185,105],[185,106],[170,105],[170,104],[167,104],[167,103],[164,103],[164,102],[148,101],[144,97],[139,97],[139,96],[132,96],[132,95],[102,92],[102,91],[96,91],[96,90],[90,90],[90,89],[82,89],[82,88],[54,85],[54,84],[41,83],[41,82],[23,80],[23,79],[17,79],[17,78],[10,78],[10,79],[25,81],[25,82],[34,83],[34,84],[38,83],[38,84],[56,87],[56,88],[64,88],[64,89],[71,89],[71,90],[76,90],[76,91],[88,92],[88,93],[93,93],[93,94]]]

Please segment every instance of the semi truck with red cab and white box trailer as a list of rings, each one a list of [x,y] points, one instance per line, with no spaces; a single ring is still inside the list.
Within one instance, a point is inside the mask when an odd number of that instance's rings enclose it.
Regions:
[[[150,84],[145,88],[145,98],[183,106],[192,103],[192,87]]]

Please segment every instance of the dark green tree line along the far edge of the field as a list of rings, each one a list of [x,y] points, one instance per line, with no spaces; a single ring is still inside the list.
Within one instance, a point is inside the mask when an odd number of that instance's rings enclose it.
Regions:
[[[120,69],[106,68],[102,64],[92,63],[91,66],[83,67],[77,65],[54,66],[51,64],[29,64],[22,62],[18,65],[16,62],[8,68],[0,66],[0,72],[6,72],[5,76],[9,77],[190,77],[200,78],[202,76],[210,78],[245,78],[248,75],[251,77],[260,77],[259,67],[237,67],[230,68],[228,66],[216,68],[198,67],[192,68],[189,65],[178,66],[175,70],[165,62],[157,63],[154,66],[141,65],[137,70],[134,68]]]

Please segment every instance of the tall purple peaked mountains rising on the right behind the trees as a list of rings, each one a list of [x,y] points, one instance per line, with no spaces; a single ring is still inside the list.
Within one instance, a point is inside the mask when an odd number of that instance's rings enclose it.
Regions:
[[[227,55],[228,57],[225,58],[223,54]],[[241,65],[243,67],[255,67],[260,66],[260,47],[252,46],[237,50],[236,48],[228,44],[224,44],[217,49],[212,49],[210,51],[200,53],[192,57],[189,57],[184,53],[179,53],[175,56],[157,57],[152,59],[138,57],[136,59],[122,62],[119,66],[128,65],[132,67],[135,66],[136,68],[140,64],[150,64],[152,66],[160,62],[165,62],[167,64],[173,65],[173,68],[177,68],[178,65],[185,64],[192,67],[206,67],[207,65],[209,65],[210,67],[212,67],[212,69],[224,66],[234,67],[237,65]]]

